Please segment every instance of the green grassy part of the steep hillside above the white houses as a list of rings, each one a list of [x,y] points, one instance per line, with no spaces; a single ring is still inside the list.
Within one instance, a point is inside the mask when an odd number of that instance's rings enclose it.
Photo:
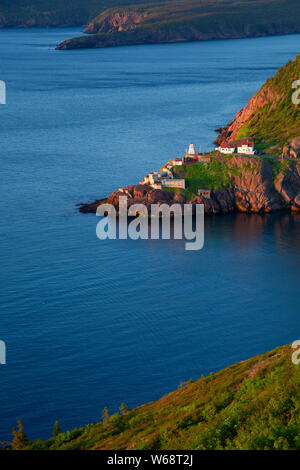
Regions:
[[[300,136],[300,106],[292,103],[292,83],[299,79],[300,54],[266,81],[258,92],[268,96],[264,106],[243,123],[237,137],[252,137],[259,150],[280,155],[290,138]]]

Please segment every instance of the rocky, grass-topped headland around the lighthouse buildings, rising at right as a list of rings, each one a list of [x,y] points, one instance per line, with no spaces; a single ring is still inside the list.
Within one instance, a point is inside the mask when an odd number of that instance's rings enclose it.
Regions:
[[[97,206],[105,202],[118,210],[119,196],[127,197],[128,207],[143,203],[148,212],[151,204],[156,203],[193,207],[204,204],[206,214],[299,211],[300,105],[292,99],[292,84],[299,77],[300,54],[269,78],[227,126],[218,129],[217,145],[251,138],[256,155],[235,151],[224,155],[216,150],[194,160],[186,159],[182,166],[176,166],[178,162],[173,160],[162,170],[171,172],[174,179],[184,180],[184,189],[165,185],[157,188],[155,184],[128,186],[106,199],[81,205],[80,211],[96,212]],[[143,182],[149,183],[147,179]],[[198,195],[200,188],[210,191],[209,197],[204,197],[201,191]]]

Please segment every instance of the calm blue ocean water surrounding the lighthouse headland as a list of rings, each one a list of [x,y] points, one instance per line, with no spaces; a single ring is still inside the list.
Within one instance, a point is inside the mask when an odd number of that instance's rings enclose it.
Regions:
[[[299,337],[299,217],[207,218],[205,246],[105,241],[76,204],[212,147],[300,36],[56,52],[0,30],[0,439],[155,400]]]

